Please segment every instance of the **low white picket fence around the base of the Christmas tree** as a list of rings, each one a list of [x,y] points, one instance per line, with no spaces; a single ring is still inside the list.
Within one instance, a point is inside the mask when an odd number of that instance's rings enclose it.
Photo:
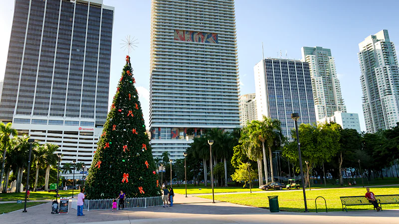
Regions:
[[[72,209],[77,209],[77,197],[69,199]],[[113,199],[95,199],[95,200],[84,200],[83,210],[111,210]],[[116,200],[119,208],[119,200]],[[150,198],[126,198],[125,209],[136,209],[136,208],[147,208],[162,206],[162,197],[150,197]]]

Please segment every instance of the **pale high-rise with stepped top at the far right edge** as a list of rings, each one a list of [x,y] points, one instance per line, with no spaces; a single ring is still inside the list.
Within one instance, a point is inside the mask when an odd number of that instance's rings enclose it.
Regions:
[[[359,51],[367,132],[396,126],[399,121],[399,70],[395,45],[388,30],[368,36],[359,44]]]

